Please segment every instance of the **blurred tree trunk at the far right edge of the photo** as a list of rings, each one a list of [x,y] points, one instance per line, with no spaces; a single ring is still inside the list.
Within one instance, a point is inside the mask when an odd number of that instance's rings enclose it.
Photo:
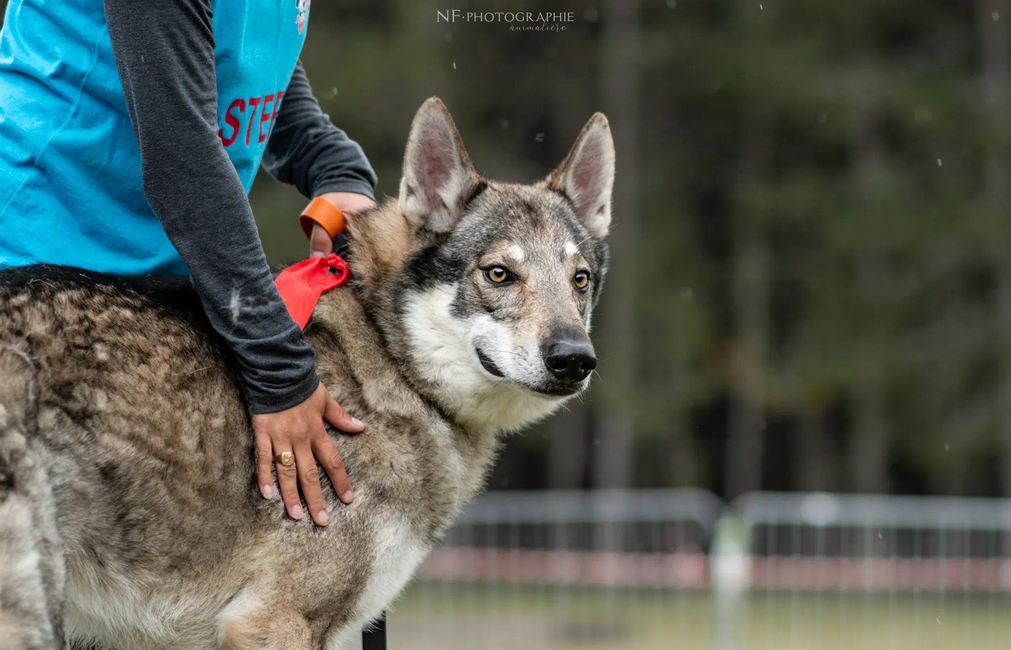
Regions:
[[[1011,110],[1011,75],[1008,74],[1008,37],[1005,27],[1011,15],[1000,15],[1004,4],[1001,0],[979,0],[977,16],[983,49],[983,101],[998,143],[997,146],[991,145],[984,162],[986,199],[990,208],[995,211],[1006,208],[1008,186],[1011,183],[1006,146],[1008,111]],[[996,20],[995,14],[998,18]],[[1006,218],[1007,215],[1004,216]],[[1007,229],[1004,228],[1004,231]],[[1011,249],[1008,246],[996,246],[994,270],[997,279],[996,353],[1000,361],[995,391],[995,416],[1001,452],[1001,486],[1005,495],[1011,496]]]

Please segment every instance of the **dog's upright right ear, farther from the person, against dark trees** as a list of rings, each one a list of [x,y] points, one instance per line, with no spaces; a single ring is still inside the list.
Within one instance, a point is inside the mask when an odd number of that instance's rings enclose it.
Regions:
[[[572,200],[590,235],[598,239],[607,236],[615,185],[615,141],[604,113],[589,118],[565,160],[543,184]]]

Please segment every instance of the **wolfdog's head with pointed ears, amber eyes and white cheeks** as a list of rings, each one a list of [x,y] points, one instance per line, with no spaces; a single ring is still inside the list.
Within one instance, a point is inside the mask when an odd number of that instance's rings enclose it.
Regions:
[[[509,185],[477,175],[441,101],[419,110],[395,206],[352,229],[354,254],[392,351],[465,424],[518,428],[588,386],[614,170],[600,113],[547,179]]]

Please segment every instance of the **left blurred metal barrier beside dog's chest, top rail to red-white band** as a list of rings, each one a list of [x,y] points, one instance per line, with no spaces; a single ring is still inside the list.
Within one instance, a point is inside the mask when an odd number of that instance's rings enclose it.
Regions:
[[[422,570],[429,579],[703,587],[723,504],[702,490],[488,493]]]

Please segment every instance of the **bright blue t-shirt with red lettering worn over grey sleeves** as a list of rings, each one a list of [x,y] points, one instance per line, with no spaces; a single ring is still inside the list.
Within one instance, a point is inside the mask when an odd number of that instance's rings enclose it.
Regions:
[[[249,192],[309,0],[211,6],[218,134]],[[11,0],[0,32],[0,267],[36,262],[187,273],[145,197],[102,0]]]

